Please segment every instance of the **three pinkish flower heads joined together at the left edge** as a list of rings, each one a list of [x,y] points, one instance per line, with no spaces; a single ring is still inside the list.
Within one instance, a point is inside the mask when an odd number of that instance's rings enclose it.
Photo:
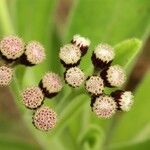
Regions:
[[[17,36],[6,36],[0,41],[0,86],[8,86],[13,77],[13,66],[33,66],[45,59],[44,47],[36,41],[27,44]]]

